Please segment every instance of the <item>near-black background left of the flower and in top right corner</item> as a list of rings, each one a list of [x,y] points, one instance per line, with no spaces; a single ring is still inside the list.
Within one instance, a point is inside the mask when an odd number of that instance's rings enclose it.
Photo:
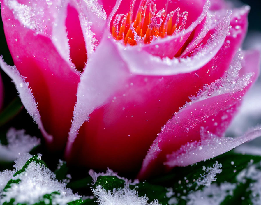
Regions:
[[[233,1],[233,2],[236,3],[237,5],[242,4],[239,1]],[[251,36],[251,33],[253,34],[256,32],[261,32],[261,0],[242,0],[241,2],[251,6],[251,11],[249,14],[249,30],[248,30],[249,36]],[[246,48],[249,47],[247,42],[249,42],[250,38],[252,37],[249,37],[248,40],[246,40],[244,47]],[[3,32],[3,23],[1,20],[0,20],[0,42],[1,42],[0,55],[3,55],[3,59],[8,65],[13,65],[13,61],[6,44],[6,40]],[[261,42],[261,37],[260,37],[260,42]],[[0,69],[0,73],[5,88],[4,107],[6,107],[7,105],[10,104],[10,102],[12,102],[14,99],[17,98],[17,91],[15,89],[14,84],[10,82],[10,78],[1,69]],[[260,87],[260,92],[261,92],[261,87]],[[6,130],[8,130],[8,128],[10,127],[15,127],[17,129],[25,129],[28,134],[42,138],[41,133],[38,130],[38,126],[36,125],[36,123],[33,122],[33,119],[29,116],[29,114],[24,108],[15,116],[15,118],[10,120],[4,126],[0,126],[0,135],[3,136]],[[1,136],[0,136],[0,140],[1,140]],[[43,139],[41,142],[44,145]],[[50,153],[46,152],[45,149],[43,149],[42,147],[39,147],[37,152],[43,153],[43,159],[45,161],[49,161],[49,159],[52,159],[49,165],[51,167],[52,166],[55,167],[57,165],[58,159],[62,158],[62,153],[56,153],[55,155],[52,154],[51,156]],[[0,171],[3,168],[5,167],[0,166]],[[82,172],[87,173],[86,170],[83,170]]]

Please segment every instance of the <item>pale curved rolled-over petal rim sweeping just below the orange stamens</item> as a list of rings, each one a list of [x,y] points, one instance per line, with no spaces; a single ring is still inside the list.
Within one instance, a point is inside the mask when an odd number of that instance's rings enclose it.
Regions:
[[[196,71],[213,59],[222,47],[230,28],[229,16],[230,15],[227,14],[224,17],[214,35],[207,41],[204,48],[198,50],[194,56],[181,59],[161,59],[140,49],[139,46],[125,47],[118,43],[119,53],[128,63],[131,72],[138,75],[177,75]],[[164,39],[165,38],[163,38],[163,40]],[[166,38],[166,43],[168,40],[169,39]]]

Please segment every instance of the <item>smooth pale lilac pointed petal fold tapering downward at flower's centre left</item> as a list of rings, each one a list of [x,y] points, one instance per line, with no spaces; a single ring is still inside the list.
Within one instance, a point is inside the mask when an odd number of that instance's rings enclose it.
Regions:
[[[106,36],[102,42],[102,46],[97,47],[81,76],[77,90],[77,104],[73,112],[73,122],[66,148],[67,157],[71,152],[71,146],[78,130],[89,119],[91,112],[102,106],[129,75],[127,66],[119,54],[115,53],[108,58],[108,53],[115,52],[115,44]]]

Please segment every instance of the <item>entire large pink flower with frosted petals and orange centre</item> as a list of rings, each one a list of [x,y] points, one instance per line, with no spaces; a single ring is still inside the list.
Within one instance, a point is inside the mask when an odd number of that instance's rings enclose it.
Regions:
[[[1,0],[1,9],[15,67],[0,65],[50,148],[66,147],[72,163],[142,167],[143,178],[259,133],[223,137],[258,76],[259,53],[239,50],[248,6]]]

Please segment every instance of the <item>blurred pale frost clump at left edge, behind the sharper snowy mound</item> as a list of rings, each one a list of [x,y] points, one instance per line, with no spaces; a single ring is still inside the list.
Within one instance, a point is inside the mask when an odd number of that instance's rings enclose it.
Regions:
[[[40,144],[40,139],[25,134],[25,130],[10,128],[6,134],[8,145],[0,144],[0,161],[14,161]]]

